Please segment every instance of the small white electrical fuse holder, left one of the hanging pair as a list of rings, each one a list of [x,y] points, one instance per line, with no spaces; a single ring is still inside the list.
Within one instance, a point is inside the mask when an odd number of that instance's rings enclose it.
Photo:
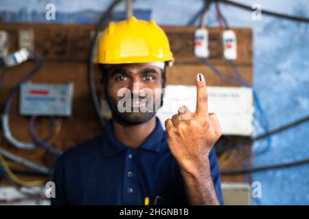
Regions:
[[[196,29],[194,34],[194,55],[206,58],[209,56],[208,30],[206,28]]]

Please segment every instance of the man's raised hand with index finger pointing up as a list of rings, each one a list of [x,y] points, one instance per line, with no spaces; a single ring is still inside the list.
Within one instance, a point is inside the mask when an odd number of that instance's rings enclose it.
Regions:
[[[172,155],[183,170],[195,172],[207,162],[214,143],[222,135],[216,114],[208,113],[205,78],[196,75],[196,111],[183,106],[178,114],[165,120],[167,142]]]

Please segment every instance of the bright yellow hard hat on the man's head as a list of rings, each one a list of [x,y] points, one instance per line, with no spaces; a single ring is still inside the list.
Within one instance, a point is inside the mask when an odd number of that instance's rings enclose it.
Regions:
[[[165,62],[172,64],[168,37],[155,21],[137,20],[134,16],[109,23],[98,43],[95,63],[126,64]]]

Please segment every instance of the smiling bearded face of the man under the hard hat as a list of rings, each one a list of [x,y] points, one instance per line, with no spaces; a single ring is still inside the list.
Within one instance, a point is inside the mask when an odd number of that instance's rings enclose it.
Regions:
[[[138,125],[155,116],[163,96],[161,68],[150,64],[121,65],[108,68],[107,77],[104,95],[118,123]]]

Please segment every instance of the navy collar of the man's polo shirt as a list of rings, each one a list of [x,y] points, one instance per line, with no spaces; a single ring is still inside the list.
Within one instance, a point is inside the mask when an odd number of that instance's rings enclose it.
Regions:
[[[156,127],[150,133],[150,135],[146,138],[146,140],[137,148],[137,150],[145,150],[145,151],[152,151],[159,153],[160,146],[161,146],[161,140],[163,137],[164,131],[161,125],[161,122],[159,118],[156,117]],[[103,152],[106,157],[111,157],[113,155],[116,155],[117,153],[120,153],[121,151],[124,151],[124,149],[130,149],[130,146],[127,146],[126,144],[119,142],[117,138],[114,135],[113,132],[113,123],[112,121],[109,121],[104,130],[104,138],[106,139],[106,143],[103,147]]]

